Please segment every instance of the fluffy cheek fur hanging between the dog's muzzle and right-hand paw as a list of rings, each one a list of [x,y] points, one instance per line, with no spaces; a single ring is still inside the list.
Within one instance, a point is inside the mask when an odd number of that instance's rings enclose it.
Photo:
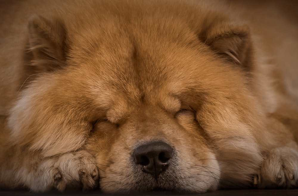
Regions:
[[[251,186],[252,175],[257,173],[262,161],[259,145],[250,124],[241,122],[237,111],[227,105],[228,102],[226,106],[216,108],[205,104],[196,118],[210,136],[210,141],[214,141],[222,173],[229,173],[221,176],[221,186]]]

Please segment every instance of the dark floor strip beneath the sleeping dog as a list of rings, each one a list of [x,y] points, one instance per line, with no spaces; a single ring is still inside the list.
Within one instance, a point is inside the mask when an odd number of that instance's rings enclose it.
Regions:
[[[100,196],[111,196],[109,194],[102,194],[98,191],[93,191],[93,192],[67,192],[67,193],[59,193],[59,192],[51,192],[51,193],[30,193],[26,191],[1,191],[0,190],[0,196],[5,196],[5,195],[13,195],[13,196],[37,196],[37,195],[44,195],[44,196],[51,196],[51,195],[100,195]],[[168,195],[168,196],[174,196],[175,194],[170,194],[170,193],[148,193],[148,194],[140,194],[140,195],[133,195],[133,196],[159,196],[159,195]],[[196,195],[196,194],[195,194]],[[298,189],[288,189],[288,190],[256,190],[256,189],[251,189],[251,190],[219,190],[219,191],[213,191],[213,192],[207,192],[203,194],[197,194],[200,196],[238,196],[238,195],[253,195],[253,196],[274,196],[274,195],[282,195],[282,196],[288,196],[288,195],[295,195],[298,196]],[[191,196],[191,195],[179,195],[179,196]]]

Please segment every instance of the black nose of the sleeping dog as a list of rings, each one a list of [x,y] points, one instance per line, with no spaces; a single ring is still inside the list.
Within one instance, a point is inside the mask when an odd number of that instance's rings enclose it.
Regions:
[[[169,166],[172,153],[173,148],[165,142],[150,142],[135,148],[133,156],[135,163],[142,165],[142,171],[157,180]]]

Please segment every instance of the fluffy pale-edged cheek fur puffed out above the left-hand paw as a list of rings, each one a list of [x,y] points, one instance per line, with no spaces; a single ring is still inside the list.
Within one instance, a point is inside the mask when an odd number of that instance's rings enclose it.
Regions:
[[[55,76],[32,82],[10,111],[13,142],[44,157],[80,148],[91,124],[85,119],[86,99],[76,97],[72,90],[61,88]]]

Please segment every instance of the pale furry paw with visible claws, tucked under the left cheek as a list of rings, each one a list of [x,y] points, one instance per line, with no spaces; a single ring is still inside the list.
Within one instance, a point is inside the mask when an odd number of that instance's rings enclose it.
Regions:
[[[29,187],[34,192],[50,189],[64,191],[80,185],[83,190],[96,188],[99,177],[94,158],[86,151],[62,154],[43,160],[29,176],[35,176]]]

